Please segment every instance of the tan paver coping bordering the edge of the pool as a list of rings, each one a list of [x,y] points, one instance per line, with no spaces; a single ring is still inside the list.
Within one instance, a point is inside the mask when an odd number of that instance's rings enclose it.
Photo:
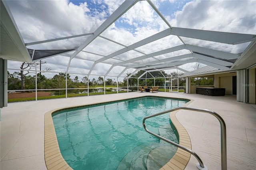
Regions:
[[[144,96],[147,97],[147,96]],[[149,96],[152,97],[152,96]],[[157,96],[156,96],[157,97]],[[136,97],[140,98],[140,97]],[[127,98],[127,99],[136,99],[136,98]],[[164,98],[170,98],[170,97],[164,97]],[[124,100],[127,100],[124,99]],[[173,99],[182,99],[182,98],[173,98]],[[193,102],[193,99],[185,99],[190,100],[186,104],[182,106],[187,106],[191,102]],[[120,100],[113,100],[103,103],[110,103]],[[91,103],[88,105],[97,105],[102,104],[101,103]],[[72,107],[62,107],[58,109],[54,109],[51,111],[48,111],[44,115],[44,160],[46,163],[46,167],[48,170],[72,170],[72,168],[67,164],[67,162],[62,157],[62,154],[60,152],[53,120],[52,120],[52,114],[54,114],[56,111],[66,110],[70,108],[77,108],[77,107],[84,107],[88,105],[77,105]],[[178,134],[179,134],[179,144],[182,146],[185,146],[186,148],[191,150],[191,141],[190,137],[188,135],[188,132],[186,129],[180,124],[178,119],[176,118],[176,113],[178,111],[173,111],[170,113],[170,119],[172,121],[172,124],[176,128]],[[188,164],[188,161],[190,160],[190,153],[178,148],[172,159],[169,160],[167,164],[165,164],[161,170],[184,170],[186,165]]]

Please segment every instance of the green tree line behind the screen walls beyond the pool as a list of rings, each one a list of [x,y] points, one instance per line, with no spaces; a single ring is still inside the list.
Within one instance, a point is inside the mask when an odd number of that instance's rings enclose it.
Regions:
[[[138,71],[135,75],[133,75],[134,78],[129,78],[131,73],[126,73],[126,76],[124,77],[123,82],[118,82],[119,87],[126,87],[127,82],[129,83],[129,87],[137,86],[138,80],[136,77],[139,77],[143,71]],[[162,71],[164,73],[164,71]],[[165,76],[171,76],[164,73]],[[172,73],[172,76],[176,76],[176,73]],[[160,78],[162,74],[159,73],[159,75],[156,76],[156,79],[147,79],[147,83],[145,79],[139,79],[139,85],[148,85],[148,86],[164,86],[164,78]],[[65,89],[66,88],[66,74],[65,73],[58,73],[54,75],[51,78],[47,78],[45,75],[42,75],[41,73],[38,73],[36,75],[22,75],[20,72],[14,72],[10,73],[8,71],[8,90],[26,90],[26,89],[35,89],[36,88],[36,77],[37,77],[37,89]],[[22,80],[24,79],[24,80]],[[168,80],[168,79],[166,79]],[[89,81],[89,82],[88,82]],[[184,82],[183,82],[184,81]],[[22,83],[24,82],[24,83]],[[69,89],[71,88],[86,88],[89,87],[95,87],[95,86],[103,86],[104,85],[104,78],[98,77],[98,79],[91,79],[88,80],[88,77],[82,77],[82,81],[79,81],[78,76],[76,76],[74,79],[70,78],[70,74],[67,74],[67,87]],[[180,81],[179,84],[184,84],[185,80],[183,79]],[[117,82],[113,81],[112,79],[106,79],[105,80],[106,86],[117,86]]]

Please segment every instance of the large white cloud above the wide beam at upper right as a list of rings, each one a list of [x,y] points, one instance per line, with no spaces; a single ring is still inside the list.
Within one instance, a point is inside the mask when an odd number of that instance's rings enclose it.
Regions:
[[[256,30],[256,3],[249,0],[188,2],[170,23],[176,27],[252,34]]]

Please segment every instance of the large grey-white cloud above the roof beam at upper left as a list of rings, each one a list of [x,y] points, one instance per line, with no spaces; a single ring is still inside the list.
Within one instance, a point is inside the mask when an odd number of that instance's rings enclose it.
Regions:
[[[93,32],[101,23],[84,15],[86,2],[76,6],[68,1],[8,1],[25,42],[42,41]]]

